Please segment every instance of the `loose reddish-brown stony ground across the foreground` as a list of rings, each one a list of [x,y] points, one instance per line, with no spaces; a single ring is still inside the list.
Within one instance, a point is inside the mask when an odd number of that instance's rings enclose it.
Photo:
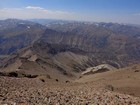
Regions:
[[[140,105],[140,98],[97,82],[0,77],[0,105]]]

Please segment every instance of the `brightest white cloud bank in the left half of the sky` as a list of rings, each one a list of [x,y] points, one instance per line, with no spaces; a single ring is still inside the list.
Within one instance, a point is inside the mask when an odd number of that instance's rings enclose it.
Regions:
[[[42,7],[27,6],[23,8],[2,8],[0,9],[0,19],[18,18],[18,19],[33,19],[33,18],[51,18],[51,19],[74,19],[75,13],[65,11],[52,11]]]

